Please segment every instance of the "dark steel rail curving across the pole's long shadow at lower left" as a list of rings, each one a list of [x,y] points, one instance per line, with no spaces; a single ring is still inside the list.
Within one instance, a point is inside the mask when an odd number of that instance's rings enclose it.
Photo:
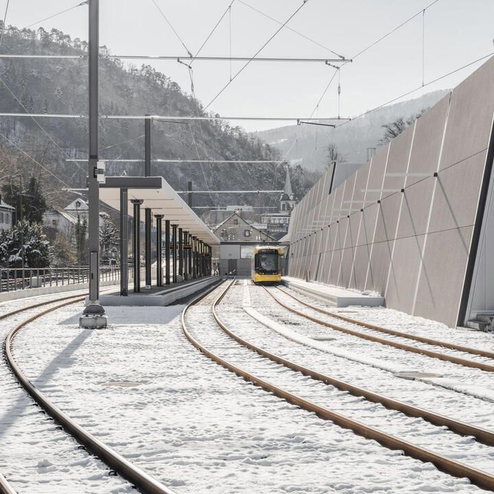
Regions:
[[[17,333],[23,329],[30,322],[52,312],[61,307],[71,305],[83,301],[85,297],[79,297],[76,300],[66,301],[62,304],[56,305],[55,307],[50,307],[44,311],[38,312],[34,316],[24,320],[19,325],[14,327],[10,333],[8,333],[7,338],[3,344],[3,352],[5,359],[7,360],[10,369],[19,380],[23,388],[31,395],[31,397],[40,405],[49,416],[51,416],[55,421],[57,421],[64,430],[69,432],[79,443],[84,445],[86,449],[89,449],[95,456],[97,456],[102,462],[104,462],[110,469],[113,469],[122,478],[125,478],[141,491],[143,494],[174,494],[174,491],[168,489],[166,486],[152,478],[148,473],[136,467],[134,464],[126,460],[123,456],[120,456],[116,451],[108,447],[105,443],[102,443],[99,439],[95,438],[92,434],[87,432],[78,423],[73,421],[67,414],[64,414],[54,403],[43,395],[27,377],[24,375],[21,368],[16,363],[14,356],[12,355],[12,342],[16,337]],[[50,302],[47,302],[47,304]],[[17,313],[17,312],[16,312]]]

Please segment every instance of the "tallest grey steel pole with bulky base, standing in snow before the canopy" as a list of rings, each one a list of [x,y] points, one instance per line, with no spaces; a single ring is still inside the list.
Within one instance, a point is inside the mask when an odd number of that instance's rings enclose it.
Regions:
[[[82,327],[106,327],[105,310],[99,304],[99,0],[89,0],[89,166],[88,166],[88,250],[89,301],[80,318]]]

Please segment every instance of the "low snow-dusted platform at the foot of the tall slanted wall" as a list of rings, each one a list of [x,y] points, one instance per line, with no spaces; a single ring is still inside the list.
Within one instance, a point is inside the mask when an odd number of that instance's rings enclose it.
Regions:
[[[303,281],[299,278],[282,277],[281,282],[288,288],[303,295],[316,298],[331,307],[348,307],[349,305],[362,305],[364,307],[379,307],[386,305],[384,297],[364,295],[352,290]]]

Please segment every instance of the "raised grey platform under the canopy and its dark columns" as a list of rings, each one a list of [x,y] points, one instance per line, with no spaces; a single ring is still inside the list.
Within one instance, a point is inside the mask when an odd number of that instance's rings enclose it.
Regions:
[[[205,277],[183,281],[181,283],[172,283],[163,287],[152,287],[146,290],[141,288],[141,292],[129,292],[128,296],[121,296],[119,292],[102,295],[99,297],[99,302],[105,306],[112,305],[134,305],[134,306],[164,306],[170,305],[180,298],[185,298],[193,293],[204,290],[209,285],[216,281],[220,281],[220,277]]]

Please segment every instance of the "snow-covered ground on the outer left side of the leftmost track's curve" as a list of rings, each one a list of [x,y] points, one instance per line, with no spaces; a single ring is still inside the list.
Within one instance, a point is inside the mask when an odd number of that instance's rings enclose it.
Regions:
[[[48,301],[54,296],[3,303],[0,314]],[[2,344],[12,327],[43,309],[45,307],[0,320]],[[54,371],[55,368],[48,366],[44,373],[50,375]],[[128,482],[109,475],[104,463],[80,449],[71,436],[38,408],[17,383],[3,358],[0,360],[0,397],[0,473],[19,494],[134,492]]]

